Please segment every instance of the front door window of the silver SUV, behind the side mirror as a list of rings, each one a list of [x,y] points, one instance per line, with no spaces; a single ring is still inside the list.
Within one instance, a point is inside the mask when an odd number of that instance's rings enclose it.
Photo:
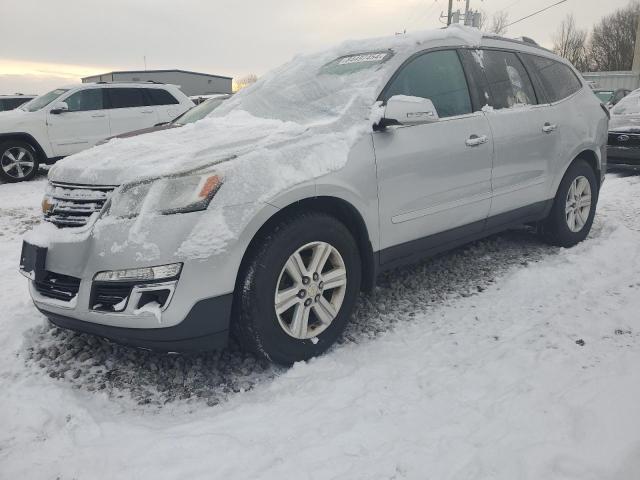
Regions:
[[[454,50],[425,53],[410,60],[391,80],[382,100],[394,95],[427,98],[441,118],[473,111],[464,70]]]

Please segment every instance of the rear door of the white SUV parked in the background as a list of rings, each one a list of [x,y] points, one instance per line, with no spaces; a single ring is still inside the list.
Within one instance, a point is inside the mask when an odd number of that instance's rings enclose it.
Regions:
[[[109,122],[111,135],[153,127],[157,123],[158,114],[142,87],[110,87]]]

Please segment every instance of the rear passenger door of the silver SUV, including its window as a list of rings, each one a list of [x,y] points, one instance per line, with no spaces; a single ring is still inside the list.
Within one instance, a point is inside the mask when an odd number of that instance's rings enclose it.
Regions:
[[[534,215],[530,209],[544,209],[540,202],[546,200],[551,180],[549,160],[557,154],[558,126],[549,117],[548,105],[538,102],[516,53],[465,50],[463,58],[465,65],[476,68],[490,107],[484,109],[494,145],[490,217],[509,223],[524,213]]]

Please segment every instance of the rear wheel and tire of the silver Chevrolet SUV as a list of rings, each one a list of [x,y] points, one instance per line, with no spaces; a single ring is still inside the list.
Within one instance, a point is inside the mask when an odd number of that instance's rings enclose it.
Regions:
[[[589,164],[580,159],[573,162],[560,182],[551,212],[543,223],[545,239],[552,245],[569,248],[587,238],[598,193],[599,184]]]

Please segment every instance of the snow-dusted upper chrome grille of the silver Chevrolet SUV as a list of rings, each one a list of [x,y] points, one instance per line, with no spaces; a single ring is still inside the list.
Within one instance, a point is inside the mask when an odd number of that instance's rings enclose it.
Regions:
[[[115,187],[52,183],[43,201],[44,219],[58,227],[83,227],[100,212]]]

